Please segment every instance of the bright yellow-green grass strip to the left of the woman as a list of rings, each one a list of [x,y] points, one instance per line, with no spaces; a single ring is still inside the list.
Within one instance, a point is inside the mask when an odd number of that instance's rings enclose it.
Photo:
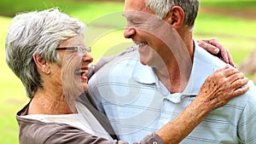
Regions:
[[[9,25],[9,18],[0,17],[0,143],[18,143],[18,124],[15,120],[15,112],[26,102],[26,96],[20,80],[15,77],[4,62],[4,37]]]

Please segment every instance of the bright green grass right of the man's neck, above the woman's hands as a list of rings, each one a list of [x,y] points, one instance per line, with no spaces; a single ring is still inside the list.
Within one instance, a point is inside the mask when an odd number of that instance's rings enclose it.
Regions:
[[[237,65],[256,48],[256,20],[243,20],[217,14],[199,14],[195,21],[196,37],[218,37],[230,49]]]

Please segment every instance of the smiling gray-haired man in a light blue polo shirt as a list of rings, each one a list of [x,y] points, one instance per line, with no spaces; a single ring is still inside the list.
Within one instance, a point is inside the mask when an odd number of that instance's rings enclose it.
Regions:
[[[138,50],[103,66],[89,83],[96,107],[120,139],[137,141],[176,118],[224,66],[193,39],[198,9],[198,0],[125,0],[124,35]],[[256,90],[248,85],[246,94],[213,110],[182,143],[256,143]]]

